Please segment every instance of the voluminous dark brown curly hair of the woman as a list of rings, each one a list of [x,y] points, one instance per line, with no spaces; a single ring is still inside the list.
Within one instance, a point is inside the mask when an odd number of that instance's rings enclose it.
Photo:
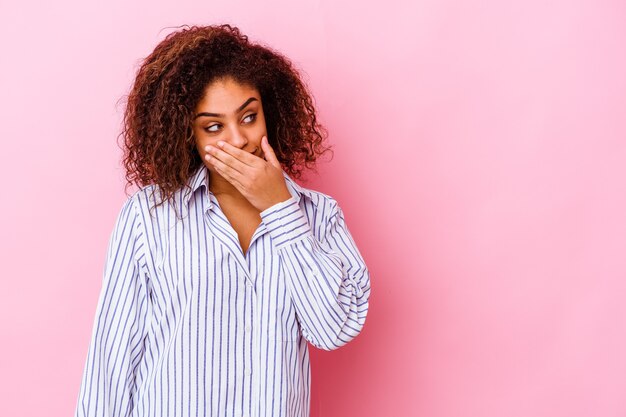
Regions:
[[[170,33],[146,57],[126,96],[122,149],[126,189],[156,184],[162,204],[203,164],[195,148],[193,111],[207,85],[230,76],[261,96],[267,138],[285,171],[314,168],[326,129],[313,97],[289,59],[252,43],[229,24],[188,26]]]

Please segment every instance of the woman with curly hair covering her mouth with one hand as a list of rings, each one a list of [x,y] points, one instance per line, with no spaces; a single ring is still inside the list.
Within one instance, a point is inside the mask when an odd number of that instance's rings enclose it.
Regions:
[[[186,27],[143,61],[124,122],[140,189],[76,416],[308,416],[307,342],[354,339],[370,281],[337,201],[292,179],[325,151],[297,71],[230,25]]]

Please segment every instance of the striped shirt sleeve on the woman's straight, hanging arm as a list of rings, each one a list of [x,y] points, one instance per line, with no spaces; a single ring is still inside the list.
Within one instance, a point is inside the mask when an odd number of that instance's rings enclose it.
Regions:
[[[137,214],[129,198],[109,239],[75,417],[123,417],[133,409],[149,307]]]

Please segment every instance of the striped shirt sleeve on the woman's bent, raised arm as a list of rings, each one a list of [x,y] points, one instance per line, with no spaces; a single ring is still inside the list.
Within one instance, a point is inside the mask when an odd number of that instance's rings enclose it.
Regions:
[[[326,231],[318,239],[294,196],[260,213],[281,257],[302,335],[315,347],[337,349],[363,328],[370,276],[346,226],[331,201]]]

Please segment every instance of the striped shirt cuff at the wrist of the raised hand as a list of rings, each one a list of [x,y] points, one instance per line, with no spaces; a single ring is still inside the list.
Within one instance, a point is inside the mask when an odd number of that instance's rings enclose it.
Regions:
[[[294,196],[268,207],[260,213],[260,216],[276,249],[303,239],[311,233],[306,216]]]

